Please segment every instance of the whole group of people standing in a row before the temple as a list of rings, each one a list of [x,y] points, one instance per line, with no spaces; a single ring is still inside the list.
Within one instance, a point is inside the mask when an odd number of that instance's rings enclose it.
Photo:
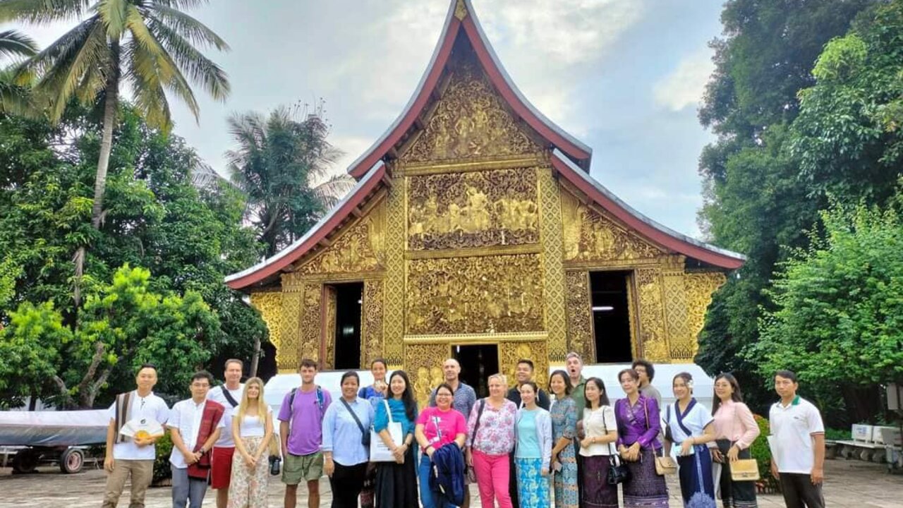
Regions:
[[[668,506],[664,471],[656,457],[675,456],[684,506],[714,507],[716,487],[725,507],[756,506],[755,485],[735,481],[731,463],[749,458],[759,436],[731,374],[715,378],[712,410],[693,397],[693,377],[673,380],[675,402],[663,408],[652,386],[650,362],[618,374],[625,397],[611,404],[604,381],[582,376],[582,359],[569,353],[547,390],[534,381],[534,363],[517,362],[516,386],[503,374],[489,376],[489,397],[478,400],[461,381],[454,359],[442,365],[444,381],[417,407],[404,371],[371,365],[374,382],[361,387],[357,372],[340,381],[340,398],[316,384],[318,365],[303,360],[302,383],[284,397],[275,431],[264,402],[264,383],[240,383],[242,364],[226,363],[226,382],[191,379],[191,399],[172,410],[153,393],[156,369],[144,365],[137,389],[110,408],[107,493],[115,507],[131,476],[131,506],[144,505],[158,436],[126,437],[133,419],[164,423],[172,436],[172,503],[200,507],[209,485],[218,508],[266,506],[268,458],[282,456],[284,506],[294,508],[306,484],[308,508],[320,506],[320,479],[329,477],[333,508],[450,508],[470,506],[467,484],[476,483],[483,506],[556,508]],[[780,479],[788,508],[824,506],[824,427],[815,406],[796,395],[793,372],[777,372],[781,400],[770,411],[772,474]],[[551,394],[551,397],[550,397]],[[400,430],[400,432],[398,431]],[[371,462],[371,439],[388,458]],[[720,471],[720,474],[717,472]]]

